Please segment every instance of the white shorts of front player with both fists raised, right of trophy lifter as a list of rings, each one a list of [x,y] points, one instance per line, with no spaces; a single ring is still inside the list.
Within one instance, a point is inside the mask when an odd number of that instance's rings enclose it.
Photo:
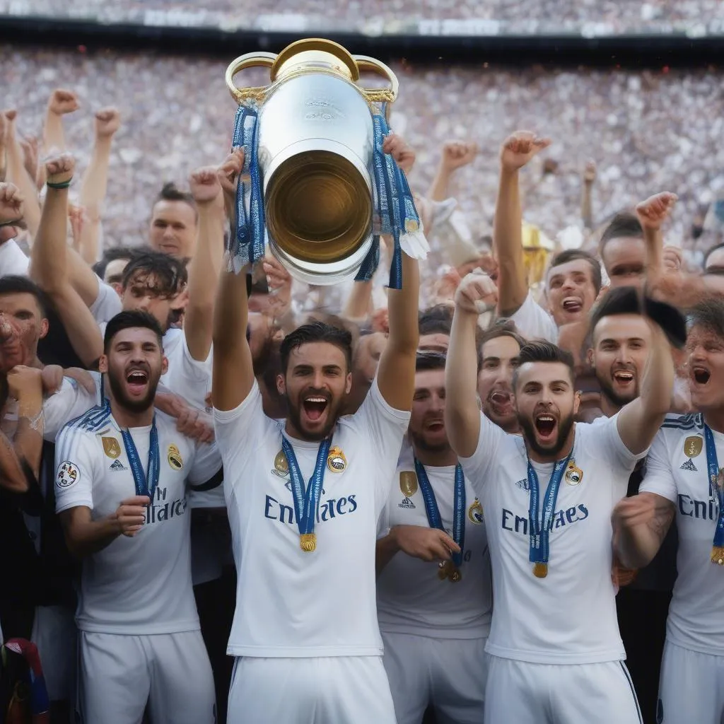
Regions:
[[[623,661],[531,664],[491,656],[485,724],[513,722],[641,724],[641,712]]]

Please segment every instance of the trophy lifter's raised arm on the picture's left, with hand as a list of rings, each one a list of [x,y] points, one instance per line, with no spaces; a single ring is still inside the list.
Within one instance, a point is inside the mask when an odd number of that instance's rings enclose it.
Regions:
[[[227,198],[231,198],[238,178],[238,173],[219,170],[219,182]],[[237,408],[254,384],[251,349],[246,339],[249,321],[246,295],[248,271],[248,266],[238,274],[222,269],[219,278],[214,304],[214,373],[211,384],[211,402],[217,410]]]

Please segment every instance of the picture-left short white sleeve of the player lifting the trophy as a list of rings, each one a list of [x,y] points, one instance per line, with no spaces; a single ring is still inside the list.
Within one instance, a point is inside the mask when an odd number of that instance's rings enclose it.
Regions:
[[[249,458],[264,445],[269,429],[274,425],[264,414],[256,379],[249,394],[233,410],[214,408],[216,446],[224,461],[224,468],[235,471],[235,474],[227,479],[227,484],[240,479],[238,471],[243,471]]]

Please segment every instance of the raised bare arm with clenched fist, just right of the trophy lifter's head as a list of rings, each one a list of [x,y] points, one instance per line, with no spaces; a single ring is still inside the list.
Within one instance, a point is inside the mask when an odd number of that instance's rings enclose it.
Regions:
[[[470,458],[480,437],[478,406],[478,315],[497,304],[495,282],[472,271],[455,292],[450,346],[445,363],[445,429],[450,445],[461,458]]]

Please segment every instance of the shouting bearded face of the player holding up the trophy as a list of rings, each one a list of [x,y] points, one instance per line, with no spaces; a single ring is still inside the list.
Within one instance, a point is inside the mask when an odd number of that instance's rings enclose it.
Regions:
[[[277,376],[290,422],[307,440],[322,440],[332,432],[350,387],[345,353],[329,342],[307,342],[293,349],[285,374]]]

